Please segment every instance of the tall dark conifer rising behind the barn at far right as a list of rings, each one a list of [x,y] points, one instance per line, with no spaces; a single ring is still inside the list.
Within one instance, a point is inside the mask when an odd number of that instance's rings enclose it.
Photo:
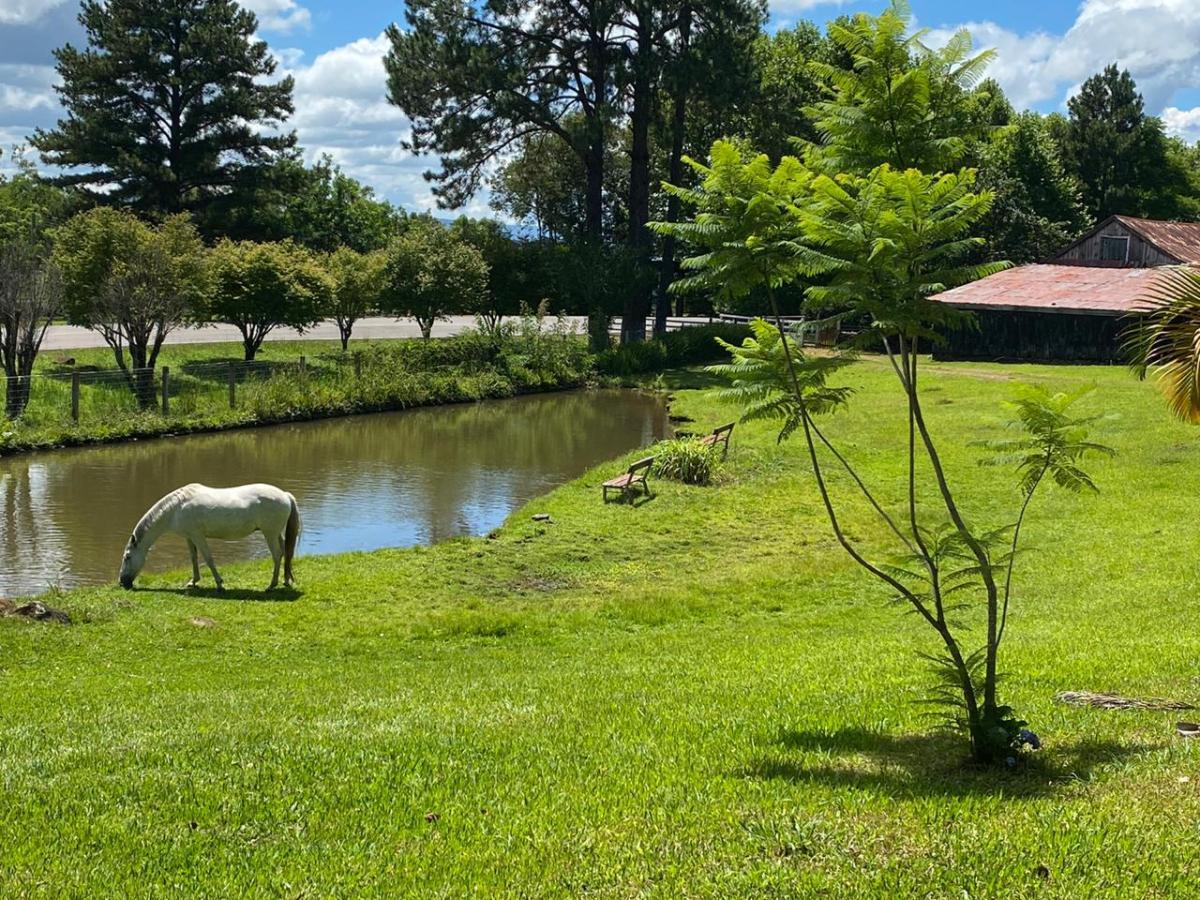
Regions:
[[[1108,66],[1084,82],[1067,109],[1066,151],[1092,220],[1170,215],[1159,193],[1170,174],[1163,124],[1146,115],[1129,72]]]

